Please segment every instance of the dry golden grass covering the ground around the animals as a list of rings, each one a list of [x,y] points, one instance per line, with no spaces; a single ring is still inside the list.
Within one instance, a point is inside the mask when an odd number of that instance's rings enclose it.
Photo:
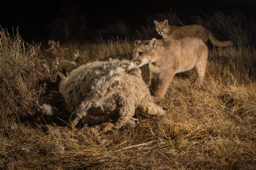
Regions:
[[[42,47],[1,29],[0,168],[255,169],[256,51],[241,42],[209,48],[201,89],[191,86],[194,70],[177,74],[158,101],[165,117],[142,115],[135,127],[87,139],[69,126],[56,72],[109,57],[130,60],[134,40],[49,40]],[[148,66],[141,71],[148,83]]]

